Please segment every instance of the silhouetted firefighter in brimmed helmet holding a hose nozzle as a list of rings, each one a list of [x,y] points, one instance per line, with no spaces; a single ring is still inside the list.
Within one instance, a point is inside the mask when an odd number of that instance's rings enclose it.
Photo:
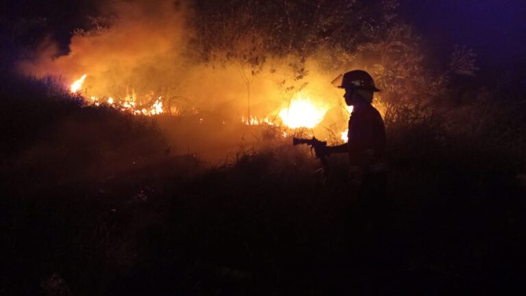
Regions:
[[[385,161],[386,132],[381,115],[372,105],[373,93],[379,92],[373,77],[355,70],[338,76],[333,83],[345,89],[345,103],[353,106],[349,118],[347,143],[322,148],[321,155],[349,153],[349,184],[357,189],[364,206],[385,206],[388,166]],[[384,204],[384,205],[381,205]]]

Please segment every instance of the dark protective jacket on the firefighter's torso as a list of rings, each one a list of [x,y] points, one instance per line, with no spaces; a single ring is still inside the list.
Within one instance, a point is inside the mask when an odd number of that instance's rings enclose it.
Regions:
[[[386,130],[384,120],[373,106],[354,110],[349,118],[350,173],[381,173],[388,171],[385,158]]]

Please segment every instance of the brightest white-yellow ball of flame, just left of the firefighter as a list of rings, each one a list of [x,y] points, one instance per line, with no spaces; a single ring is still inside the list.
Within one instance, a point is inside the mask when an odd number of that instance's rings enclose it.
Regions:
[[[323,120],[326,112],[326,107],[316,106],[310,99],[304,99],[299,94],[297,99],[292,99],[288,108],[279,111],[279,117],[290,128],[312,128]]]

